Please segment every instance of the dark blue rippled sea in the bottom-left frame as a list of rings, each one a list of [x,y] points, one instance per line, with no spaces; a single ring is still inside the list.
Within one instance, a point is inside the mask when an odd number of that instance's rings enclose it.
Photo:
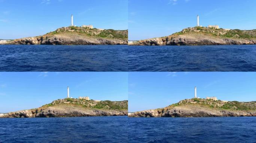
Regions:
[[[0,118],[0,143],[127,143],[127,116]]]

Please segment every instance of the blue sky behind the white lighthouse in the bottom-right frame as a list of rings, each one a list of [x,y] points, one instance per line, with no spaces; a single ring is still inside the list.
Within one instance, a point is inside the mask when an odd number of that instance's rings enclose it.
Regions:
[[[256,72],[129,72],[128,111],[167,107],[194,96],[256,101]]]

